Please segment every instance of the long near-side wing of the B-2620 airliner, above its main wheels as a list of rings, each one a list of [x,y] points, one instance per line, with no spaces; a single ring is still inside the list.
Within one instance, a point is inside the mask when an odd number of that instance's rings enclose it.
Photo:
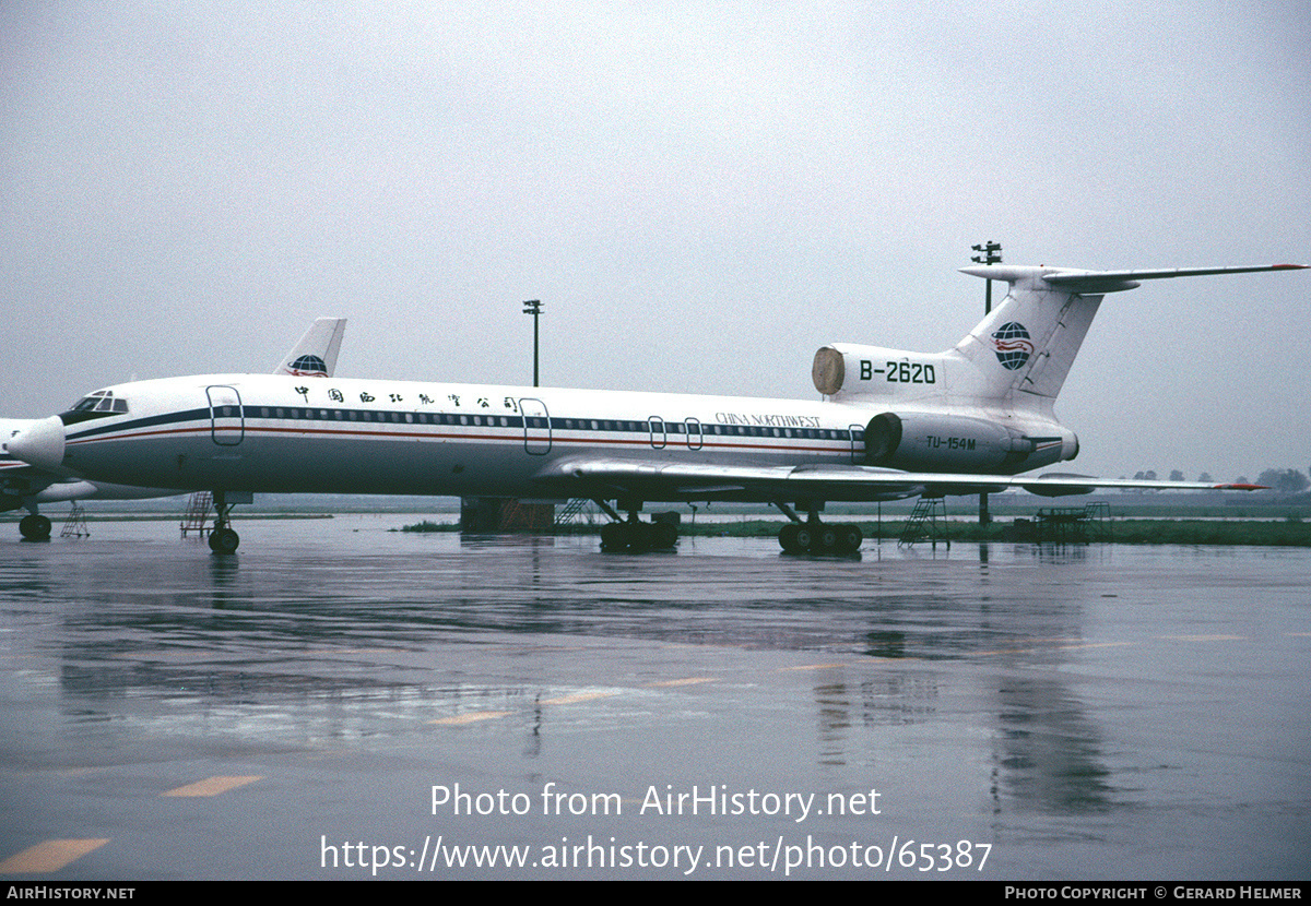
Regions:
[[[1091,475],[978,475],[897,471],[874,466],[750,466],[658,460],[577,457],[551,463],[538,479],[568,496],[635,496],[644,500],[895,500],[919,495],[996,494],[1020,487],[1041,496],[1121,490],[1260,490],[1260,484],[1103,479]]]

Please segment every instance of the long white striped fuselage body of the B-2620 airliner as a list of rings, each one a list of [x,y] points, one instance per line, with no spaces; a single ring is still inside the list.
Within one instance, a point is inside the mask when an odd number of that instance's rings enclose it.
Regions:
[[[648,463],[861,465],[865,427],[884,411],[749,397],[262,374],[109,390],[130,411],[69,423],[66,469],[98,480],[253,492],[549,496],[560,462],[581,454]],[[996,418],[1025,433],[1065,431],[1004,411]],[[962,456],[973,449],[971,439],[949,431],[923,443],[960,446]],[[1023,467],[1059,454],[1058,445]],[[558,496],[572,494],[577,488]],[[743,494],[666,488],[644,496]],[[871,488],[863,499],[895,496],[905,494]]]

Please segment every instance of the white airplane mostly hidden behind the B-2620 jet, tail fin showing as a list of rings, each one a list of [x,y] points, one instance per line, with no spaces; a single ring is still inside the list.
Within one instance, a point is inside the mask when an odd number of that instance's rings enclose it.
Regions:
[[[345,318],[317,318],[302,335],[291,351],[278,360],[274,374],[296,377],[330,377],[337,368],[341,338],[346,330]],[[122,402],[113,397],[90,394],[80,403],[83,412],[113,412]],[[10,439],[33,424],[35,419],[0,419],[0,437]],[[110,482],[90,482],[67,478],[62,473],[30,466],[9,453],[8,444],[0,445],[0,512],[26,508],[28,515],[18,521],[24,541],[49,541],[50,518],[38,512],[43,503],[63,500],[143,500],[169,498],[176,488],[136,487]]]

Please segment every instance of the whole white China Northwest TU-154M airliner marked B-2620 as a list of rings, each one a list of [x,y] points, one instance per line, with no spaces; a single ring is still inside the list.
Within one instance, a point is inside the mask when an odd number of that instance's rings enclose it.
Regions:
[[[675,528],[640,520],[645,501],[768,501],[792,520],[779,533],[785,551],[847,553],[860,530],[821,522],[825,501],[1240,487],[1019,473],[1079,450],[1053,402],[1103,295],[1301,268],[965,268],[1009,284],[968,336],[936,355],[826,346],[814,357],[818,402],[205,374],[97,390],[24,429],[9,452],[89,480],[212,491],[210,545],[222,554],[239,542],[232,504],[252,492],[585,496],[615,520],[604,550],[676,542]]]

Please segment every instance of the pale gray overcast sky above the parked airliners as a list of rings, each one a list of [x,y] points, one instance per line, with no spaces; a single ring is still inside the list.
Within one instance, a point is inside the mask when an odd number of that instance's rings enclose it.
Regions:
[[[1311,263],[1311,8],[0,5],[0,415],[267,371],[817,398],[939,351],[956,268]],[[1071,467],[1311,465],[1311,276],[1108,296]]]

